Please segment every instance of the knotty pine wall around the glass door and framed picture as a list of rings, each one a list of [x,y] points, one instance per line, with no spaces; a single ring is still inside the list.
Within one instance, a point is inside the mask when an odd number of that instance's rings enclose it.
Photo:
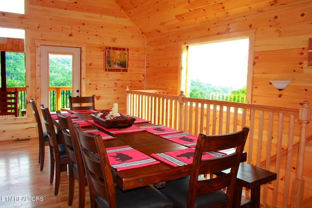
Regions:
[[[145,38],[112,0],[26,0],[26,14],[1,12],[0,27],[26,29],[27,99],[40,104],[36,44],[85,47],[82,95],[95,95],[96,108],[119,103],[125,112],[126,86],[144,89]],[[104,47],[129,48],[128,73],[104,72]],[[29,55],[27,56],[27,50]],[[38,50],[38,49],[37,49]],[[85,80],[89,79],[90,84]],[[0,119],[0,141],[37,137],[31,106],[28,117]]]

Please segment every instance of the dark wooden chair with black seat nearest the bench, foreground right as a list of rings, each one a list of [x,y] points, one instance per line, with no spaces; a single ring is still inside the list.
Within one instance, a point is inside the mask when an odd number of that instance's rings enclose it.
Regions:
[[[191,175],[174,181],[166,182],[159,189],[179,208],[232,208],[236,176],[246,143],[249,129],[219,134],[198,135],[192,164]],[[202,160],[204,152],[235,148],[234,153]],[[204,178],[201,174],[213,175],[223,170],[217,177]],[[224,191],[226,189],[226,191]]]

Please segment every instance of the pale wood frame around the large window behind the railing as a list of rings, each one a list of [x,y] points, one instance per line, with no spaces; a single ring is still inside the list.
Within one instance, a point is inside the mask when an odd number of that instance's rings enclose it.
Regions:
[[[241,31],[241,32],[235,32],[235,33],[229,33],[229,34],[222,34],[217,36],[209,36],[209,37],[203,37],[203,38],[196,38],[192,40],[186,40],[186,41],[180,41],[180,56],[179,56],[179,83],[178,87],[180,91],[185,90],[185,86],[182,86],[182,84],[185,84],[185,80],[182,80],[183,76],[183,63],[182,63],[182,56],[183,51],[185,51],[185,48],[190,45],[199,45],[199,44],[207,44],[212,42],[219,42],[219,41],[226,41],[226,40],[234,40],[234,39],[240,39],[240,38],[249,38],[249,56],[248,56],[248,72],[247,72],[247,86],[246,86],[246,103],[252,103],[252,81],[253,81],[253,61],[254,61],[254,34],[255,30],[247,30],[247,31]],[[187,79],[187,77],[185,77]]]

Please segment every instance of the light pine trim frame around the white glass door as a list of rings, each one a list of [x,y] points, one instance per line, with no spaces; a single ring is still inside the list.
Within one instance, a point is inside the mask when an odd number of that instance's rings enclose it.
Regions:
[[[36,97],[37,103],[41,104],[41,47],[40,46],[58,46],[58,47],[75,47],[80,48],[80,95],[86,94],[86,70],[85,70],[85,58],[86,58],[86,44],[74,43],[74,42],[58,42],[58,41],[46,41],[46,40],[35,40],[36,45]],[[47,106],[48,107],[48,106]]]

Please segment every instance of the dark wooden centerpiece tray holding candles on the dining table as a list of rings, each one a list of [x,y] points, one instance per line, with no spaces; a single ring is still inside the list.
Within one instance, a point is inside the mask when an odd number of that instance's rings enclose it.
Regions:
[[[91,114],[91,117],[94,122],[107,129],[131,127],[136,120],[136,118],[126,115],[116,116],[112,119],[104,119],[96,114]]]

